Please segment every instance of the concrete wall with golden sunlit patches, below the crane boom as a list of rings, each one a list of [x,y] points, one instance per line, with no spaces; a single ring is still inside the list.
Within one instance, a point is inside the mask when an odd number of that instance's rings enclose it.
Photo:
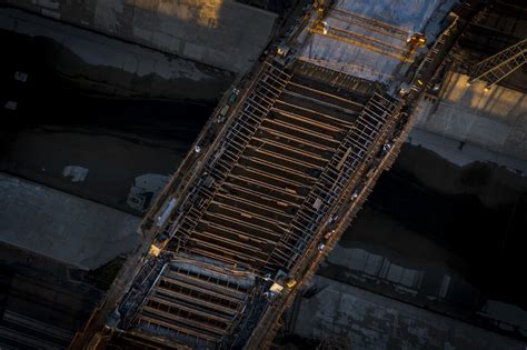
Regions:
[[[416,127],[519,159],[527,159],[527,96],[485,83],[467,86],[453,73],[437,106],[424,101]]]

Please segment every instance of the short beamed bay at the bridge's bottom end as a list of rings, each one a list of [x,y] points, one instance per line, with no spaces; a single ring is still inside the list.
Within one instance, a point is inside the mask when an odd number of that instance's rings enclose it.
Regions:
[[[191,257],[189,257],[191,258]],[[253,297],[255,279],[181,256],[165,266],[133,313],[129,329],[176,339],[198,349],[217,349],[237,327]]]

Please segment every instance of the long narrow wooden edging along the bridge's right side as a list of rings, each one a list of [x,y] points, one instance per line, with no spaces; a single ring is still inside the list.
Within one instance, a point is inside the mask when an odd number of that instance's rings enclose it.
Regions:
[[[278,331],[277,324],[280,323],[281,313],[292,303],[295,297],[302,286],[305,286],[312,278],[320,262],[327,258],[331,249],[340,239],[345,229],[355,219],[357,212],[361,209],[361,206],[368,198],[382,171],[389,169],[392,166],[404,141],[408,137],[408,133],[415,123],[416,113],[414,113],[414,111],[417,103],[422,98],[422,92],[426,89],[426,84],[420,83],[420,81],[426,80],[436,71],[437,67],[444,60],[461,29],[463,27],[460,28],[458,20],[455,19],[441,33],[438,40],[436,40],[432,48],[428,51],[427,56],[417,68],[409,94],[397,106],[392,107],[392,112],[390,118],[387,120],[388,122],[386,123],[386,128],[384,129],[384,132],[378,136],[379,144],[386,140],[391,141],[390,149],[376,164],[375,171],[371,172],[371,176],[365,178],[365,181],[361,186],[361,191],[355,199],[350,197],[350,193],[354,190],[354,184],[356,181],[348,181],[347,189],[341,192],[342,196],[340,200],[337,201],[337,207],[345,209],[345,211],[341,216],[341,220],[334,230],[334,234],[329,240],[326,241],[328,249],[325,249],[324,251],[317,251],[315,246],[316,241],[312,241],[311,247],[305,251],[302,259],[296,266],[296,277],[298,283],[294,290],[289,291],[287,296],[277,302],[271,303],[267,308],[266,313],[260,319],[260,323],[252,332],[250,342],[247,346],[248,349],[256,347],[258,349],[269,349],[271,341]],[[404,111],[404,109],[406,111]],[[409,112],[409,114],[407,112]],[[374,154],[370,152],[368,154],[369,162],[371,162],[372,157]],[[362,168],[362,171],[359,170],[356,172],[355,178],[357,179],[357,177],[364,177],[364,174],[365,172]],[[321,230],[321,232],[324,232],[324,230]]]

